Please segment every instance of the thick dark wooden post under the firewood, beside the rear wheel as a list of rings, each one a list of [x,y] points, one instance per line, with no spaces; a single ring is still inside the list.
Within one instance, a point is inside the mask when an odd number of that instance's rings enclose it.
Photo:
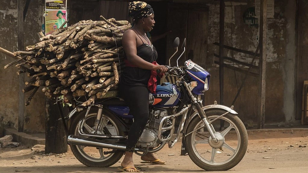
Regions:
[[[55,100],[46,99],[45,110],[45,153],[67,152],[67,138]]]

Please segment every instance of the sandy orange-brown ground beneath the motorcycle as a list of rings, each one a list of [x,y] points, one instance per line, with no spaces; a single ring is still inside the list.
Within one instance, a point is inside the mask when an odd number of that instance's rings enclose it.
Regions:
[[[248,135],[249,144],[245,157],[228,172],[308,172],[308,129],[249,130]],[[165,165],[143,164],[140,163],[140,157],[135,155],[135,166],[149,173],[205,172],[188,155],[180,156],[180,146],[181,143],[178,142],[172,149],[165,146],[156,153],[160,159],[166,161]],[[120,162],[108,168],[86,167],[75,159],[71,151],[63,155],[33,155],[34,151],[24,146],[0,149],[0,172],[120,172],[117,169]]]

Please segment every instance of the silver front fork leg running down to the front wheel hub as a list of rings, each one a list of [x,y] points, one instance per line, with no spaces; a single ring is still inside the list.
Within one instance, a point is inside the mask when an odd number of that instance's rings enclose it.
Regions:
[[[202,103],[198,102],[196,97],[193,96],[192,92],[190,91],[190,88],[188,87],[187,83],[184,82],[184,85],[188,91],[189,96],[191,97],[191,99],[193,100],[193,105],[194,107],[197,109],[198,111],[198,115],[201,118],[201,120],[203,121],[203,124],[205,125],[205,127],[208,129],[210,136],[212,137],[213,142],[217,142],[217,139],[215,137],[215,129],[213,127],[212,124],[209,123],[204,110],[202,109]]]

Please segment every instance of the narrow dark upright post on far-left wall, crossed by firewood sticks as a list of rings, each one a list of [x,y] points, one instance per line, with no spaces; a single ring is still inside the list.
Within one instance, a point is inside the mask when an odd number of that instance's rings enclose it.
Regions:
[[[18,50],[24,50],[24,33],[23,33],[23,10],[24,3],[22,0],[17,1],[17,11],[18,11]],[[22,92],[25,83],[24,73],[18,75],[19,77],[19,99],[18,99],[18,132],[23,132],[23,123],[24,123],[24,111],[25,111],[25,95]]]

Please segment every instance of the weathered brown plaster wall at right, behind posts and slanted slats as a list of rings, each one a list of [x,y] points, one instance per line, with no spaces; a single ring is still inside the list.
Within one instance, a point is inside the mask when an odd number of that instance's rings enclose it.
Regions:
[[[211,73],[210,89],[205,93],[205,104],[219,102],[219,65],[214,64],[218,58],[219,47],[213,45],[219,42],[219,1],[185,1],[174,0],[180,3],[206,3],[209,7],[208,25],[208,53],[205,59],[206,68]],[[258,45],[259,26],[246,25],[243,19],[245,11],[254,7],[254,0],[234,0],[225,2],[225,45],[255,52]],[[268,18],[267,31],[267,71],[266,71],[266,98],[265,124],[292,124],[295,120],[295,62],[296,62],[296,1],[275,0],[274,18]],[[253,56],[228,51],[225,56],[239,61],[251,63]],[[247,67],[230,65],[248,69]],[[257,58],[254,65],[259,64]],[[252,70],[257,72],[257,70]],[[224,104],[231,103],[241,86],[245,74],[225,68],[224,73]],[[258,115],[258,77],[248,76],[245,86],[237,98],[234,109],[244,122],[257,124]]]

